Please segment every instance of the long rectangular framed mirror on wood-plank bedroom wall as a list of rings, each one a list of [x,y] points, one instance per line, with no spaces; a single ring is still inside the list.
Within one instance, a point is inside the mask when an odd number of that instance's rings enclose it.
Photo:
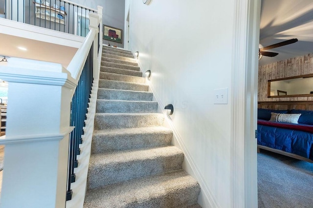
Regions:
[[[268,80],[268,98],[313,96],[313,74]]]

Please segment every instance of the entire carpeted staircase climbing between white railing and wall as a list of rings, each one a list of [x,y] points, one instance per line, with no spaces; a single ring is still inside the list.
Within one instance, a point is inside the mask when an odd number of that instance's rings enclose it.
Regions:
[[[103,47],[84,208],[200,208],[130,51]]]

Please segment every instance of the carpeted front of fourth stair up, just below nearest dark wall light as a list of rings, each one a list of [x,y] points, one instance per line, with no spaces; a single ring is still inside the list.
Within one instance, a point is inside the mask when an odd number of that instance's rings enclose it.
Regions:
[[[138,128],[163,125],[161,113],[96,113],[94,129]]]

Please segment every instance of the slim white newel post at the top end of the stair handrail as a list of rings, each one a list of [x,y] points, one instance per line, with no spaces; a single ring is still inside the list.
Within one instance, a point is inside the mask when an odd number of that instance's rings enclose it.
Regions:
[[[93,78],[98,79],[98,33],[99,33],[99,15],[95,13],[89,13],[89,30],[94,29],[96,35],[93,39]]]

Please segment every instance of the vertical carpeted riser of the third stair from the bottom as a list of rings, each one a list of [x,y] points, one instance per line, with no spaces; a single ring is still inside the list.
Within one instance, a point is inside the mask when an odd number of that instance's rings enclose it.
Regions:
[[[171,145],[173,133],[154,132],[137,134],[94,134],[91,153]]]

